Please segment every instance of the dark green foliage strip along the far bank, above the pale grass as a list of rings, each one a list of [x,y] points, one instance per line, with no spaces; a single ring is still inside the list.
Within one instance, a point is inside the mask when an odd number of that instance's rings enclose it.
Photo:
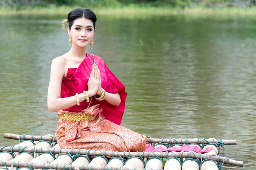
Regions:
[[[47,6],[81,6],[81,7],[180,7],[189,8],[193,6],[202,7],[251,7],[256,5],[256,0],[2,0],[0,7],[22,10],[34,7]]]

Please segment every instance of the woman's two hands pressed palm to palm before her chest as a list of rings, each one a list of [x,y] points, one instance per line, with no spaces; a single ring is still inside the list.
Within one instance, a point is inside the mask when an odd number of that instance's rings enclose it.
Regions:
[[[96,64],[92,65],[92,72],[90,74],[89,80],[88,80],[88,91],[91,91],[93,95],[101,95],[101,77],[100,77],[100,71]]]

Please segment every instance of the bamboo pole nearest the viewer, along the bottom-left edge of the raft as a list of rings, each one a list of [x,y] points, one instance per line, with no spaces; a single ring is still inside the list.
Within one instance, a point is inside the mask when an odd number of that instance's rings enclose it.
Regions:
[[[3,167],[4,165],[6,165],[7,167],[11,167],[12,166],[12,162],[11,161],[0,161],[0,166]],[[32,169],[58,169],[58,170],[77,170],[77,167],[69,165],[69,164],[55,164],[55,165],[49,165],[49,164],[44,164],[44,163],[38,163],[38,164],[32,164],[29,162],[18,162],[13,164],[13,167],[32,167]],[[109,170],[109,167],[90,167],[88,165],[80,165],[79,170]],[[30,168],[29,168],[30,169]],[[111,170],[130,170],[128,168],[124,168],[124,167],[112,167]],[[151,169],[145,169],[145,168],[134,168],[133,170],[151,170]]]

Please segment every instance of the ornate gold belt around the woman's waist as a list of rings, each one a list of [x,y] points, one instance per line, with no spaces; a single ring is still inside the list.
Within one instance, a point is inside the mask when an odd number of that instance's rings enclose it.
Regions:
[[[65,121],[71,121],[71,122],[79,122],[79,121],[92,121],[94,120],[94,117],[90,114],[80,114],[80,115],[74,115],[71,113],[64,113],[60,115],[60,118]]]

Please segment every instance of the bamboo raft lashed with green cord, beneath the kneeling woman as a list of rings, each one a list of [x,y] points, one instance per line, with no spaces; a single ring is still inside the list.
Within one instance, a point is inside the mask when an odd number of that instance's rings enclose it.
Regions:
[[[154,139],[147,142],[154,148],[213,147],[208,153],[189,152],[117,152],[85,149],[61,149],[55,136],[15,135],[4,138],[19,140],[15,146],[0,147],[0,167],[6,170],[220,170],[223,164],[243,167],[219,155],[220,147],[236,144],[221,139]]]

